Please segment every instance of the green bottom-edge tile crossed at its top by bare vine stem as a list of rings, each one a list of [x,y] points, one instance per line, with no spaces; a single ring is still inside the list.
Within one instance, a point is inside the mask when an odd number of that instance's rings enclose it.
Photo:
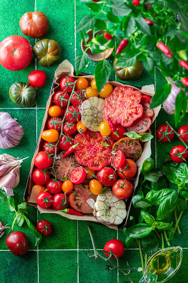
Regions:
[[[86,251],[87,252],[87,251]],[[94,254],[93,250],[90,251]],[[103,256],[103,251],[99,251]],[[117,269],[110,271],[105,271],[106,263],[104,260],[98,258],[91,258],[89,262],[89,257],[80,250],[78,252],[78,265],[79,265],[79,283],[101,283],[101,282],[113,282],[117,283]]]

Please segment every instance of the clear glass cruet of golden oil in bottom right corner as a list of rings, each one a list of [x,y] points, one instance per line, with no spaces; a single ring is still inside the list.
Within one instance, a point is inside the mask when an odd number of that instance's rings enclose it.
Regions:
[[[152,254],[146,263],[144,276],[139,283],[162,283],[169,280],[180,268],[182,248],[169,247]]]

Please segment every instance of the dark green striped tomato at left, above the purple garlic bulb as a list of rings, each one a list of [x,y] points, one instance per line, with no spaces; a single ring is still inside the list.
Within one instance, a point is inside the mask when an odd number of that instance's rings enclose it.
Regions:
[[[30,83],[17,82],[11,85],[9,96],[14,103],[23,107],[31,107],[38,99],[38,92],[36,87]]]

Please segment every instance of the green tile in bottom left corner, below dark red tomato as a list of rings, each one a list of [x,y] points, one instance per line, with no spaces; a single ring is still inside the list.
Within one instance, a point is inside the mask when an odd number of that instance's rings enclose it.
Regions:
[[[0,251],[0,278],[2,283],[38,282],[37,252],[14,256],[10,251]]]

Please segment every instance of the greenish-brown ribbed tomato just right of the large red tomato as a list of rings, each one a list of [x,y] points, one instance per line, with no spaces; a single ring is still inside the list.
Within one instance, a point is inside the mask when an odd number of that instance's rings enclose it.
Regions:
[[[59,61],[61,48],[55,40],[42,39],[33,47],[33,54],[39,65],[49,67]]]

